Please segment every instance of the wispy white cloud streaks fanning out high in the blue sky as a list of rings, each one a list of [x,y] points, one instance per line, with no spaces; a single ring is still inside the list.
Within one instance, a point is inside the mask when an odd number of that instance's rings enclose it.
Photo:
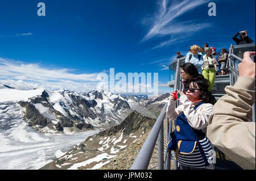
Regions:
[[[153,49],[161,48],[177,42],[187,41],[187,38],[193,33],[211,27],[212,25],[210,23],[200,23],[195,21],[176,21],[176,19],[179,18],[181,15],[184,15],[185,13],[196,9],[201,5],[204,5],[207,2],[209,2],[209,0],[162,0],[162,3],[159,3],[158,12],[154,14],[153,18],[150,18],[151,28],[143,37],[141,42],[147,41],[154,37],[163,37],[166,35],[171,36],[170,40],[163,41],[159,45],[155,46]],[[147,21],[145,20],[144,22]]]

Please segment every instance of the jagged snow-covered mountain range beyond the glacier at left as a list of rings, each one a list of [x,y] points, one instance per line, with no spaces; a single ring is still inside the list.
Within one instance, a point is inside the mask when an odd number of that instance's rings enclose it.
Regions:
[[[131,112],[121,95],[91,91],[29,91],[1,86],[0,106],[19,104],[20,113],[29,126],[42,133],[75,133],[120,124]],[[2,115],[2,117],[6,115]],[[8,115],[10,120],[14,115]],[[1,115],[0,115],[1,118]]]

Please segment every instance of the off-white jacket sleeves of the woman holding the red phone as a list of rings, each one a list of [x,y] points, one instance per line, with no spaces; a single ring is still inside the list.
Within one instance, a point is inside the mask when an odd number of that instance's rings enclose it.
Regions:
[[[195,103],[188,100],[185,95],[180,96],[180,103],[181,105],[175,108],[176,100],[168,100],[168,106],[166,109],[167,117],[175,120],[181,112],[184,112],[184,115],[187,117],[188,123],[192,128],[202,129],[203,132],[206,132],[208,120],[212,114],[213,105],[205,103],[194,110]]]

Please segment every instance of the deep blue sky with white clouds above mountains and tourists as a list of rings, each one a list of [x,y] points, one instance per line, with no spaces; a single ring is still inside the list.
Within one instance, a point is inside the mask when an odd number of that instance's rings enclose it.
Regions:
[[[39,2],[46,16],[37,15]],[[110,68],[167,83],[177,51],[209,43],[219,52],[242,30],[255,43],[255,1],[9,0],[0,2],[0,24],[0,83],[89,91]]]

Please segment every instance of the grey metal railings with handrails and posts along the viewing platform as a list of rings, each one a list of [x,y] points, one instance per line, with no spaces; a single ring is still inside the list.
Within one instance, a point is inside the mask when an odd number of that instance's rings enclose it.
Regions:
[[[236,47],[235,47],[236,46]],[[242,45],[242,48],[250,48],[254,47],[255,50],[255,44],[251,45]],[[228,61],[226,68],[230,70],[230,85],[234,85],[236,83],[238,78],[238,71],[236,70],[235,66],[235,60],[242,61],[242,58],[237,56],[234,53],[234,50],[239,50],[238,45],[230,45],[230,52],[228,56]],[[241,54],[241,52],[239,52]],[[178,58],[177,60],[173,61],[176,65],[176,72],[175,72],[175,83],[174,83],[174,91],[181,90],[182,84],[181,84],[181,75],[180,75],[180,61],[182,62],[184,58]],[[171,169],[171,159],[173,159],[173,166],[172,168],[174,170],[177,169],[177,161],[175,159],[175,153],[174,151],[170,151],[166,148],[166,145],[164,145],[164,135],[168,135],[168,141],[171,140],[170,133],[172,132],[172,128],[175,127],[176,120],[170,120],[166,118],[166,103],[163,107],[162,112],[158,116],[158,119],[156,120],[154,127],[151,129],[150,134],[148,134],[148,137],[146,141],[144,142],[141,150],[139,151],[137,157],[135,158],[135,161],[133,165],[131,166],[131,170],[146,170],[148,169],[148,165],[150,163],[150,160],[152,158],[152,153],[154,151],[154,148],[157,145],[157,163],[158,163],[158,169],[159,170],[170,170]],[[177,106],[179,106],[179,101],[177,101]],[[166,120],[166,123],[164,124],[164,119]],[[253,105],[253,121],[255,122],[255,103]],[[156,142],[157,141],[157,142]],[[167,142],[168,142],[167,141]],[[166,157],[164,161],[164,148],[166,148]]]

